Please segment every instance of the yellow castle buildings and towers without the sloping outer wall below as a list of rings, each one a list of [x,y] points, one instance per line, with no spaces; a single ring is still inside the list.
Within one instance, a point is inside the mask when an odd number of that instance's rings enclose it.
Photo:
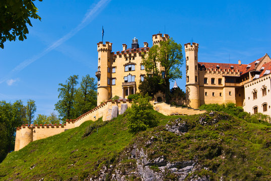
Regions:
[[[153,45],[169,39],[167,34],[152,36]],[[122,51],[112,52],[112,43],[99,42],[97,105],[114,96],[127,98],[139,92],[140,80],[146,74],[142,53],[150,50],[148,43],[139,47],[133,39],[131,48],[122,44]],[[186,61],[186,105],[199,108],[203,104],[234,103],[248,113],[271,116],[271,59],[265,54],[250,64],[198,62],[198,44],[184,44]],[[161,66],[158,64],[158,69]],[[257,96],[258,92],[258,96]],[[261,92],[261,93],[260,93]]]

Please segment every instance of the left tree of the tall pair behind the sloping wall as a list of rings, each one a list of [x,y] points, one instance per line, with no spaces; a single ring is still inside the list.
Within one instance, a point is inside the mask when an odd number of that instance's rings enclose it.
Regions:
[[[59,83],[60,88],[58,88],[58,99],[59,101],[54,105],[55,110],[59,113],[59,117],[62,122],[66,119],[75,119],[77,117],[75,111],[75,94],[76,85],[78,84],[78,75],[70,76],[65,84]]]

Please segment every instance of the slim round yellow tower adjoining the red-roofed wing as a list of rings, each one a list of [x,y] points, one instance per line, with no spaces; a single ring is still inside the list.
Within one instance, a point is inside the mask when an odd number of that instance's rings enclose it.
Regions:
[[[198,67],[197,67],[197,43],[184,44],[186,60],[186,100],[187,105],[197,109],[200,106],[199,85],[198,85]]]

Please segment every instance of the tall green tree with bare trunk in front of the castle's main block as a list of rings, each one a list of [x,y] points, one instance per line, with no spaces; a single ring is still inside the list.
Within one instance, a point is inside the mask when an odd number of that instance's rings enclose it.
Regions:
[[[166,102],[170,101],[170,81],[182,77],[180,67],[183,63],[182,46],[172,38],[161,41],[159,45],[150,48],[149,54],[143,56],[143,64],[147,74],[161,75],[166,86]],[[159,71],[157,67],[161,66]],[[157,73],[156,73],[157,72]]]

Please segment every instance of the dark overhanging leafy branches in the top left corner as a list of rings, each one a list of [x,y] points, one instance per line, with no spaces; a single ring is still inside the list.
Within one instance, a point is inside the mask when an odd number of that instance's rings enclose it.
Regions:
[[[28,34],[27,24],[32,26],[29,18],[39,19],[35,0],[2,0],[0,3],[0,47],[4,48],[4,43],[15,41],[19,37],[20,41],[26,39]],[[40,2],[42,0],[39,0]]]

